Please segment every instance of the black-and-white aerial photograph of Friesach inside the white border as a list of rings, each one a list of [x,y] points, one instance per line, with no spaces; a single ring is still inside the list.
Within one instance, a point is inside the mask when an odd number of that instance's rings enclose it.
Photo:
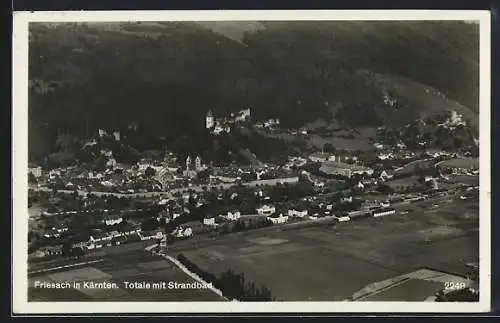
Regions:
[[[28,301],[479,301],[479,24],[31,22]]]

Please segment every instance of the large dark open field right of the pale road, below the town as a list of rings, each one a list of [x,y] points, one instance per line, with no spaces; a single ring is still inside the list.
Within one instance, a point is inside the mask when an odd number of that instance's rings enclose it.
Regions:
[[[467,203],[475,208],[463,212]],[[427,206],[336,227],[235,234],[170,253],[182,252],[216,275],[229,268],[244,272],[277,300],[344,300],[370,283],[422,267],[463,274],[464,262],[478,261],[477,202]]]

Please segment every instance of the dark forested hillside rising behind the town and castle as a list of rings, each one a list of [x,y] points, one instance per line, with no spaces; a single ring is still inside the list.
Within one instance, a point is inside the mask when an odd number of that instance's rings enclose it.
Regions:
[[[83,138],[99,127],[136,124],[167,142],[192,140],[203,136],[209,109],[220,115],[250,107],[254,119],[279,117],[291,127],[317,118],[345,127],[397,124],[449,108],[445,101],[477,113],[477,25],[236,27],[32,24],[30,159],[51,151],[58,133]],[[441,101],[415,99],[424,92]],[[384,95],[397,104],[387,106]]]

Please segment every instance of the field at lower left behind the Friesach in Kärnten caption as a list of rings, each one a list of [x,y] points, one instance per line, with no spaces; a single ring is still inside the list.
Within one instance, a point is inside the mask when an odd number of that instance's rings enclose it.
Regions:
[[[151,244],[151,242],[150,242]],[[138,244],[140,245],[140,244]],[[144,250],[125,249],[107,253],[103,261],[28,278],[30,301],[221,301],[207,289],[128,289],[125,282],[194,282],[170,261],[152,256]],[[67,261],[66,261],[67,262]],[[81,262],[81,261],[80,261]],[[45,289],[35,288],[39,282],[110,282],[117,288]],[[83,286],[83,285],[82,285]]]

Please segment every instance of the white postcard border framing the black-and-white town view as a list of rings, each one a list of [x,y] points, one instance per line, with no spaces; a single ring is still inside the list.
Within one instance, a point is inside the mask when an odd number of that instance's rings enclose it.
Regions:
[[[14,12],[12,92],[12,311],[67,313],[477,313],[490,310],[490,47],[489,11],[216,10]],[[265,20],[473,20],[480,23],[480,301],[436,302],[28,302],[28,24],[30,22]]]

